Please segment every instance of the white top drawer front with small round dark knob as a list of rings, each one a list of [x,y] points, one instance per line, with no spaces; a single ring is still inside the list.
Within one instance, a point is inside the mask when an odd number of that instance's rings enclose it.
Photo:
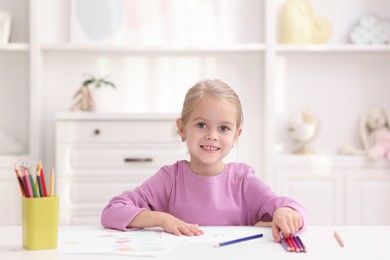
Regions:
[[[180,142],[172,121],[57,122],[57,142]]]

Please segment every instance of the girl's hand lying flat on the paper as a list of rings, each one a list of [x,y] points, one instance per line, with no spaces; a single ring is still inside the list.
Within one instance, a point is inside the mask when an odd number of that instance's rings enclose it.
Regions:
[[[200,236],[203,235],[203,231],[197,224],[186,223],[170,214],[164,214],[161,222],[161,227],[168,233],[176,236]]]

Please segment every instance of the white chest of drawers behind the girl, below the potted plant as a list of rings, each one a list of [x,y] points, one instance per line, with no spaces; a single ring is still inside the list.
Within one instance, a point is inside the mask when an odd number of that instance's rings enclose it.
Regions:
[[[163,165],[186,159],[175,119],[170,114],[58,114],[60,222],[100,225],[112,197],[133,190]]]

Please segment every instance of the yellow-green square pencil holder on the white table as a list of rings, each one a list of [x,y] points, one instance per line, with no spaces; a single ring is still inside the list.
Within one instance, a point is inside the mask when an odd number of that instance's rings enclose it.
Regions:
[[[23,247],[28,250],[57,248],[59,198],[22,197]]]

